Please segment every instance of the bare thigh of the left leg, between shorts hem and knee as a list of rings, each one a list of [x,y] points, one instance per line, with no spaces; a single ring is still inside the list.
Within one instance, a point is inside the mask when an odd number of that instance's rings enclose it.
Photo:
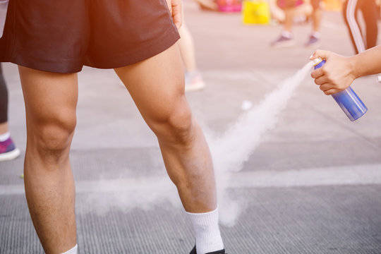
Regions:
[[[78,101],[76,73],[49,73],[19,66],[28,128],[75,122]],[[29,131],[29,130],[28,130]]]

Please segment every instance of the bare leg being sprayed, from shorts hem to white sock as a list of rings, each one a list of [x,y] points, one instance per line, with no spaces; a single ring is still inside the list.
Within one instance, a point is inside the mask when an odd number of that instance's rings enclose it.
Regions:
[[[140,63],[115,71],[159,140],[164,164],[187,212],[217,207],[210,151],[184,95],[177,44]]]

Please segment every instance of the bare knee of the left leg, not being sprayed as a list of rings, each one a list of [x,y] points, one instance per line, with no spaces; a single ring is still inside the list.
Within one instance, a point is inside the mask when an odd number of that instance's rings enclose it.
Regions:
[[[33,125],[32,144],[40,154],[60,156],[68,150],[76,125],[75,114],[56,114],[37,122]]]

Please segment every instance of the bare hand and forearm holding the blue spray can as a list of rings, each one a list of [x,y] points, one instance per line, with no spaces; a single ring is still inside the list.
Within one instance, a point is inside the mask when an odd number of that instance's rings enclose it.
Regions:
[[[340,56],[333,52],[317,50],[311,56],[326,59],[327,63],[311,73],[315,84],[325,95],[346,90],[356,78],[381,73],[381,47],[373,47],[356,56]]]

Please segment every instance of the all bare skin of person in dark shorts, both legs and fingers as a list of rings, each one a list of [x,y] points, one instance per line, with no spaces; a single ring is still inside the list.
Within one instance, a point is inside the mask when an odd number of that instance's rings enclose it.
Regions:
[[[169,3],[181,26],[180,0]],[[212,159],[184,96],[177,44],[150,59],[115,69],[143,118],[157,135],[164,164],[188,212],[217,208]],[[78,76],[19,66],[27,123],[25,193],[32,222],[47,254],[76,244],[75,186],[69,151],[75,131]]]

